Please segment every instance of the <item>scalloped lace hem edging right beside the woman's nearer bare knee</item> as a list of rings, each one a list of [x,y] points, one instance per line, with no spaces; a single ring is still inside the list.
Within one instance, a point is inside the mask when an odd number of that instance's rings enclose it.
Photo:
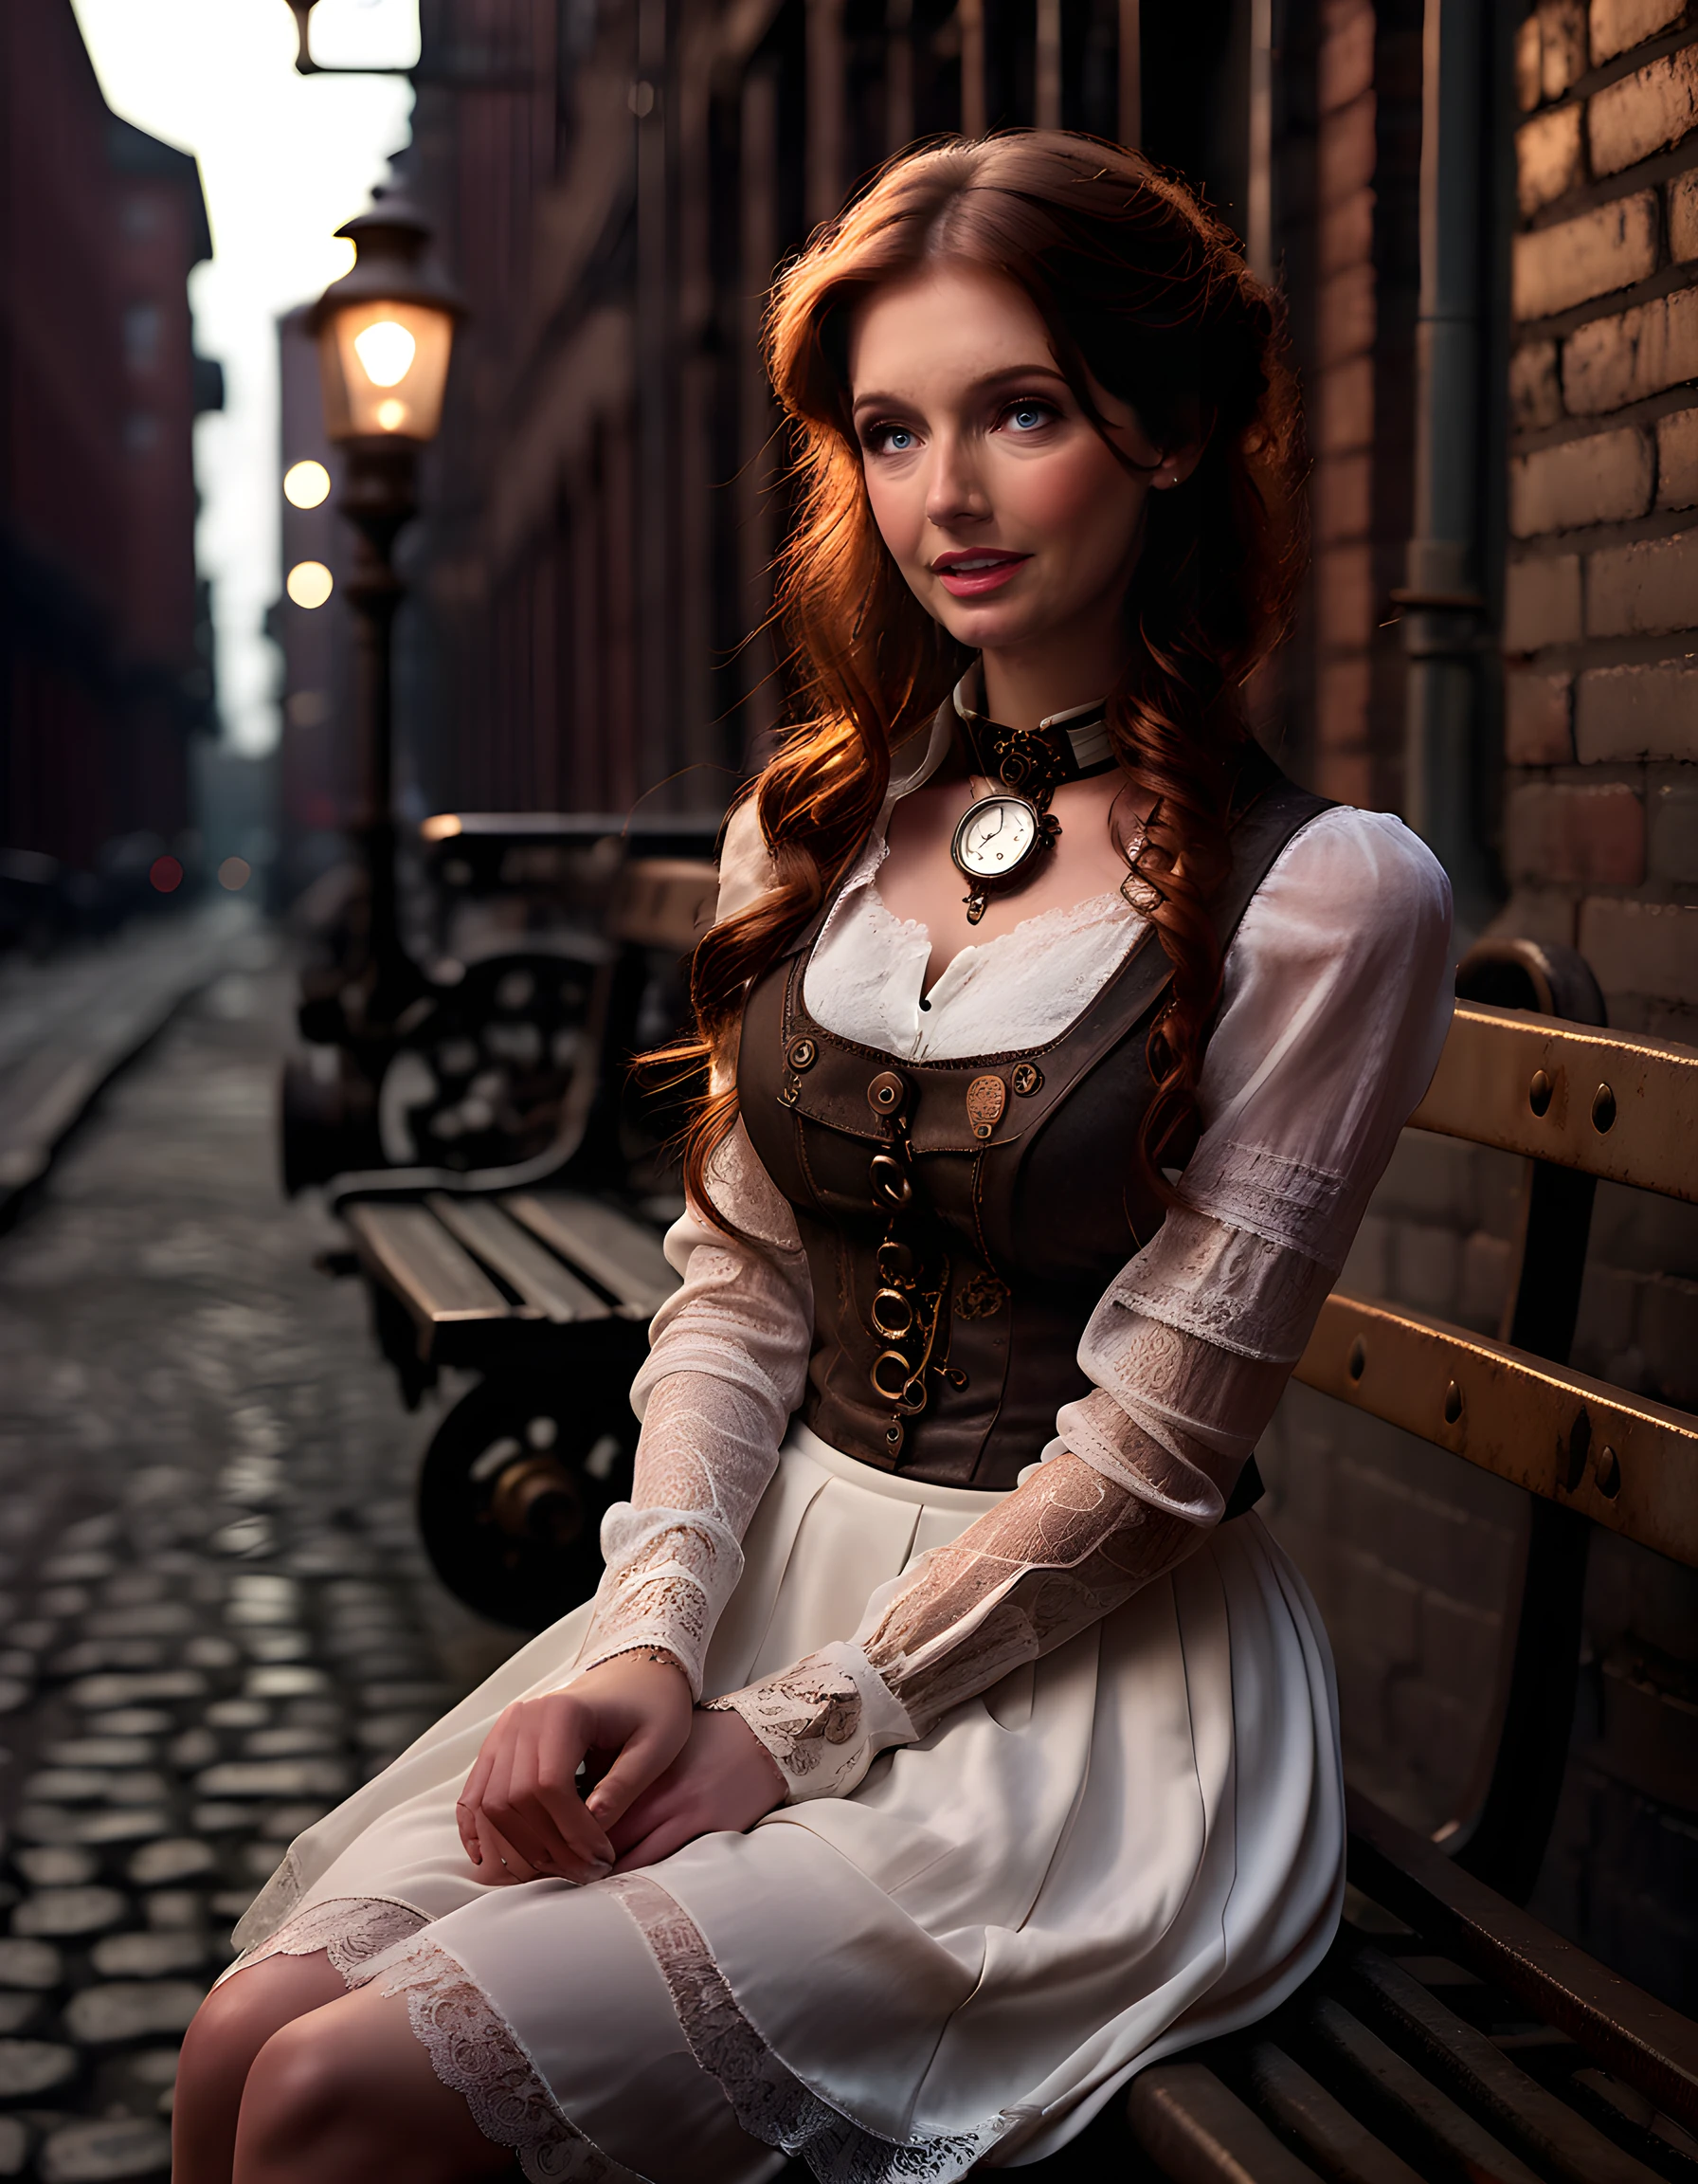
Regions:
[[[351,1987],[369,1983],[380,1994],[406,1996],[412,2038],[430,2068],[461,2094],[485,2138],[513,2149],[530,2184],[624,2184],[631,2177],[561,2112],[519,2035],[428,1933],[397,1942],[349,1981]]]

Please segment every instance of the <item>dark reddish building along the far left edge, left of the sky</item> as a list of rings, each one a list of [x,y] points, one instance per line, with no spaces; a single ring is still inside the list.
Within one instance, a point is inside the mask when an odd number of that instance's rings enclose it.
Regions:
[[[190,823],[210,721],[192,426],[218,406],[186,153],[100,98],[70,0],[0,15],[0,852],[111,876]]]

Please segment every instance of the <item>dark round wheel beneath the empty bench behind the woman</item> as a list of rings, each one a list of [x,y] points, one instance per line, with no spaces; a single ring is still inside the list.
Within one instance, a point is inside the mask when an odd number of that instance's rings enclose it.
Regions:
[[[537,1631],[596,1590],[602,1514],[631,1492],[631,1372],[635,1356],[596,1374],[605,1393],[567,1372],[491,1374],[439,1426],[419,1531],[447,1590],[491,1623]]]

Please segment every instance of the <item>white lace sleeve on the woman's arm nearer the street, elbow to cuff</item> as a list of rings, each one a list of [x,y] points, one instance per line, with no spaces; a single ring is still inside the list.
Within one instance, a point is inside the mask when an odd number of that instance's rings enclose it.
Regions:
[[[666,1238],[683,1286],[661,1306],[631,1404],[642,1417],[631,1500],[602,1518],[607,1568],[574,1675],[655,1647],[701,1695],[714,1623],[742,1577],[742,1535],[801,1400],[814,1293],[790,1208],[742,1125],[709,1171],[714,1203]]]

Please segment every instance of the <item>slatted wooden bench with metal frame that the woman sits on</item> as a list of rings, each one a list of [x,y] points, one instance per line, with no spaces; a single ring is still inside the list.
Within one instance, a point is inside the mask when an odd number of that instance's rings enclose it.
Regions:
[[[1698,1566],[1698,1417],[1567,1365],[1595,1179],[1698,1199],[1698,1051],[1604,1031],[1571,950],[1486,943],[1458,996],[1412,1120],[1528,1158],[1502,1332],[1334,1293],[1296,1378],[1532,1496],[1491,1765],[1443,1850],[1353,1795],[1344,1924],[1316,1977],[1144,2070],[1124,2121],[1035,2173],[1698,2177],[1698,2025],[1519,1909],[1563,1782],[1591,1527]]]

